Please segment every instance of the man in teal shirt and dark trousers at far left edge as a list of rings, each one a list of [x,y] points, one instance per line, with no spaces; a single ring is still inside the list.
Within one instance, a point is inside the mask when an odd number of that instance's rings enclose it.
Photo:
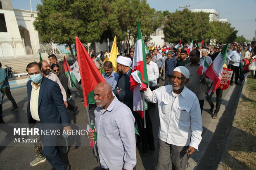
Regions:
[[[8,82],[8,77],[4,69],[2,69],[2,63],[0,63],[0,91],[2,93],[2,99],[5,97],[5,94],[7,98],[12,102],[12,110],[11,112],[14,112],[19,109],[18,105],[16,104],[14,98],[12,97],[12,93],[10,91],[10,85]]]

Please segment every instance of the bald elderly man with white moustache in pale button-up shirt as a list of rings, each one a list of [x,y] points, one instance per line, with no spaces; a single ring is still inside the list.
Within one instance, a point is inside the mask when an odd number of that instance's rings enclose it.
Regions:
[[[131,110],[113,96],[111,85],[99,83],[94,89],[97,105],[95,127],[102,170],[133,170],[136,165],[134,117]],[[95,129],[93,129],[93,132]],[[94,140],[93,133],[88,133]]]

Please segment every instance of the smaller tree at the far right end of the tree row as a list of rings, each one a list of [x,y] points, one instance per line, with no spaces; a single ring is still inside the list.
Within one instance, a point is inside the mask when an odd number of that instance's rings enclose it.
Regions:
[[[238,31],[230,23],[212,21],[210,26],[211,38],[215,38],[218,43],[231,43],[237,38]]]

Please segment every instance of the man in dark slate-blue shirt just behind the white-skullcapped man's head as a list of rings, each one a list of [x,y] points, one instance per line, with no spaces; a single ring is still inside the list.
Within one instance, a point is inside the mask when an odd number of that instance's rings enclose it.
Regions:
[[[171,80],[171,75],[173,74],[173,70],[177,64],[176,59],[171,56],[171,51],[168,51],[167,57],[168,58],[165,60],[165,79],[164,79],[165,86],[169,84]]]

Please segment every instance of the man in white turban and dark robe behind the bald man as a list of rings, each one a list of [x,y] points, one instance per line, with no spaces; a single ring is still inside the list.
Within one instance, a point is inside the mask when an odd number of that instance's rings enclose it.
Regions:
[[[119,56],[116,59],[116,69],[119,71],[119,79],[113,90],[120,102],[123,102],[133,110],[133,92],[130,90],[130,65],[132,60],[128,57]]]

